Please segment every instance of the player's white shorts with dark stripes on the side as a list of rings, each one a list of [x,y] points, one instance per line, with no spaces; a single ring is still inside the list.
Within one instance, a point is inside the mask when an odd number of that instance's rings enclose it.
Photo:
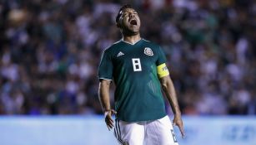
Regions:
[[[134,123],[116,119],[114,135],[121,145],[178,145],[168,116]]]

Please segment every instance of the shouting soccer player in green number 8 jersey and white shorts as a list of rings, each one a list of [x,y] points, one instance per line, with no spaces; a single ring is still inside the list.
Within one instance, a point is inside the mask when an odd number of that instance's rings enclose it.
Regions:
[[[160,46],[140,37],[140,23],[133,7],[121,7],[116,24],[123,39],[103,52],[98,68],[98,96],[105,122],[109,130],[114,127],[115,137],[122,145],[178,145],[173,124],[184,136],[183,120],[166,57]],[[111,109],[109,99],[112,80],[116,85],[115,109]],[[161,86],[173,109],[173,123],[165,111]]]

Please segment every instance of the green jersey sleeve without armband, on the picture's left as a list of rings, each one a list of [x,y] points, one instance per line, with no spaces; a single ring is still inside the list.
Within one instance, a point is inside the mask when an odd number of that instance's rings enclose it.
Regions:
[[[103,52],[103,56],[98,66],[98,79],[99,80],[113,79],[113,62],[111,59],[111,55],[106,50]]]

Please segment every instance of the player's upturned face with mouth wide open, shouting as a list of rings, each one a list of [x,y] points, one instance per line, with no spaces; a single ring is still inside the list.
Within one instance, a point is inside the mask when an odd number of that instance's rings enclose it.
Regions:
[[[133,8],[126,8],[122,11],[122,16],[120,17],[119,24],[123,32],[128,32],[131,34],[138,34],[140,27],[140,19],[138,17],[138,12]]]

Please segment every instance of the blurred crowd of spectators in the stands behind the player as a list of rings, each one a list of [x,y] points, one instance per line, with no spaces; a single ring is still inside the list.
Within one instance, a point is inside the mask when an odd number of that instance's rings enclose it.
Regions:
[[[183,114],[256,114],[253,0],[0,1],[0,114],[102,114],[98,63],[127,2],[167,55]]]

